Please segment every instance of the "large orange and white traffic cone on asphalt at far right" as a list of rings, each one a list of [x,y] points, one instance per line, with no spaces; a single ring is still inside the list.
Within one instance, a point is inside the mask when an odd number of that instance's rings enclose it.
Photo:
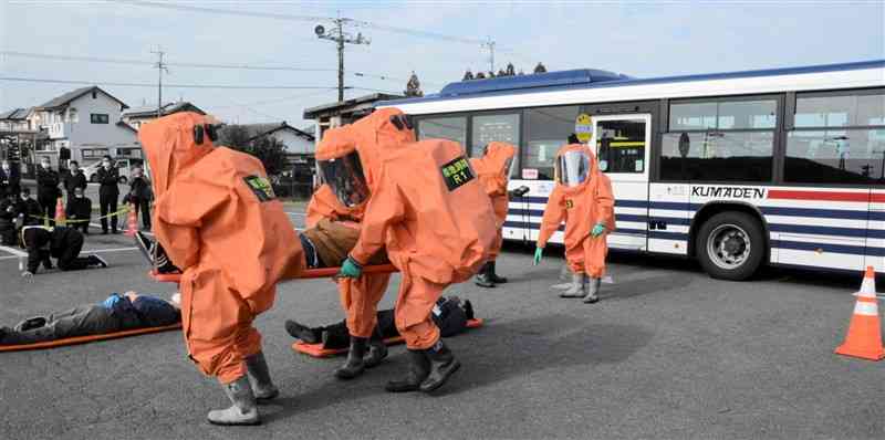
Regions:
[[[876,272],[872,265],[866,266],[864,282],[856,295],[857,303],[854,305],[848,334],[845,342],[836,348],[836,354],[870,360],[885,358],[876,303]]]

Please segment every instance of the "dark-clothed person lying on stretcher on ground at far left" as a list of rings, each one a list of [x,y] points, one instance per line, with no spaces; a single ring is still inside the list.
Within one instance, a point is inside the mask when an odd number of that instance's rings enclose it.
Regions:
[[[101,304],[84,304],[65,312],[24,319],[14,327],[0,326],[0,345],[32,344],[74,336],[102,335],[122,331],[160,327],[181,321],[173,300],[114,293]]]

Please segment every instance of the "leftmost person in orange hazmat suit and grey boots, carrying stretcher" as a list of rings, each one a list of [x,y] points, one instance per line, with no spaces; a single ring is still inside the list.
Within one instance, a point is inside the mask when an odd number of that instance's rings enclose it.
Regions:
[[[214,119],[177,113],[142,127],[154,175],[154,233],[183,270],[183,333],[190,358],[233,404],[215,425],[260,422],[257,402],[279,395],[252,321],[273,305],[275,284],[304,265],[294,227],[261,161],[216,148]]]

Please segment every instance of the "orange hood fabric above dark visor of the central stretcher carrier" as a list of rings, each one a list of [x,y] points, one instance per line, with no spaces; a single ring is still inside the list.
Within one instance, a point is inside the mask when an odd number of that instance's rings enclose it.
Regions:
[[[415,140],[415,130],[400,109],[382,108],[353,124],[325,132],[315,156],[319,163],[357,151],[365,181],[372,190],[378,180],[383,150]]]

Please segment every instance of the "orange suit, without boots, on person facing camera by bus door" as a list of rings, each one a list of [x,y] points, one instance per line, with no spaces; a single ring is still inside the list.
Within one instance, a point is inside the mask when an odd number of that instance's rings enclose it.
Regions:
[[[550,237],[565,221],[565,259],[574,273],[585,272],[598,279],[605,273],[608,252],[607,232],[615,229],[612,182],[600,171],[593,153],[582,144],[565,145],[556,153],[559,159],[569,151],[582,151],[590,164],[586,179],[569,187],[556,182],[544,208],[538,248],[546,245]],[[604,224],[606,232],[591,237],[595,224]]]

